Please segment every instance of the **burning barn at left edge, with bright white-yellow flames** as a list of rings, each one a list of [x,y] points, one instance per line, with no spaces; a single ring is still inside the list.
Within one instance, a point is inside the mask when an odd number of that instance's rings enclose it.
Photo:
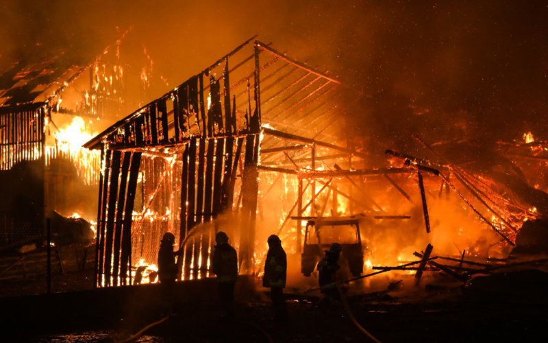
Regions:
[[[93,58],[58,49],[0,71],[2,244],[42,235],[54,212],[94,219],[100,155],[81,145],[145,102],[153,82],[146,49],[128,35]]]

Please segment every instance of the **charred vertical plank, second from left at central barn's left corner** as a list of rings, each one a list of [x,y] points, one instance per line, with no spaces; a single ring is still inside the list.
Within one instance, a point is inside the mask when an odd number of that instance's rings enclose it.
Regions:
[[[105,237],[105,279],[106,285],[110,286],[112,241],[114,239],[114,217],[116,216],[116,200],[118,196],[118,178],[120,176],[121,152],[112,152],[112,163],[110,164],[110,182],[108,187],[108,209]]]

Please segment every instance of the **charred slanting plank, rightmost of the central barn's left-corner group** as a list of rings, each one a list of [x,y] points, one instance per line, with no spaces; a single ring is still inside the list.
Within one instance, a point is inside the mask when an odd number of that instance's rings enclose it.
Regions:
[[[125,158],[125,157],[124,157]],[[131,156],[131,167],[129,169],[129,181],[127,182],[127,197],[125,202],[123,230],[122,230],[122,254],[121,254],[121,277],[125,285],[127,270],[129,269],[129,284],[132,283],[132,222],[135,194],[137,192],[137,180],[141,153],[134,152]]]

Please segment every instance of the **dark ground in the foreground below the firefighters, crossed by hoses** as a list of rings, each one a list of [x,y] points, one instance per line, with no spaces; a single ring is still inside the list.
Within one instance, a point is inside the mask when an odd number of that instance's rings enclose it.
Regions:
[[[190,302],[149,329],[137,342],[373,342],[339,309],[325,314],[314,301],[289,300],[288,322],[271,320],[268,301],[238,301],[235,320],[220,318],[215,305]],[[380,342],[545,342],[548,304],[477,301],[453,292],[408,302],[392,296],[351,299],[356,320]],[[58,327],[34,327],[3,342],[120,342],[161,318],[155,310],[132,319],[82,322],[75,318]],[[260,328],[260,329],[259,329]]]

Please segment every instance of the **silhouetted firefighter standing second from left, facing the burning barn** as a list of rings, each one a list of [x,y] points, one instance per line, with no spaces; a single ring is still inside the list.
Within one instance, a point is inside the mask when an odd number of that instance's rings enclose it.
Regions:
[[[238,255],[228,244],[228,236],[219,231],[215,236],[216,246],[212,256],[211,271],[217,276],[221,309],[225,316],[234,315],[234,285],[238,276]]]

